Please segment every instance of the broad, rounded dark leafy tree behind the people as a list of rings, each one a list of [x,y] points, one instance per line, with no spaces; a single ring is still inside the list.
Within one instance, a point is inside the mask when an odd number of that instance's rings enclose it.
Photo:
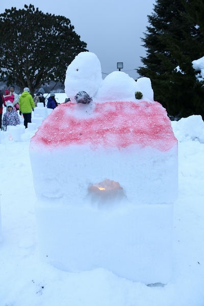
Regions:
[[[0,14],[0,79],[7,86],[29,87],[33,94],[44,83],[64,82],[67,66],[87,44],[64,16],[44,14],[30,4]]]

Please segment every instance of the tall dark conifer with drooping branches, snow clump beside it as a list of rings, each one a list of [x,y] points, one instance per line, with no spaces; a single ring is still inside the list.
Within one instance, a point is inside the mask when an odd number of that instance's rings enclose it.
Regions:
[[[204,89],[192,61],[203,56],[203,36],[187,13],[184,0],[156,0],[144,33],[147,56],[140,76],[151,80],[158,100],[171,116],[200,114],[204,118]],[[199,0],[198,0],[199,1]]]

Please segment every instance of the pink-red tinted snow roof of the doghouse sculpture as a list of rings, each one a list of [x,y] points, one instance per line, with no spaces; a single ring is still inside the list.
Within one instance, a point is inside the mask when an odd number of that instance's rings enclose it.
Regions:
[[[96,149],[139,144],[166,151],[177,142],[166,110],[157,102],[100,103],[95,105],[91,115],[86,116],[85,111],[85,116],[74,116],[78,108],[81,112],[80,107],[74,103],[58,106],[43,121],[31,140],[31,146],[90,144],[92,149]]]

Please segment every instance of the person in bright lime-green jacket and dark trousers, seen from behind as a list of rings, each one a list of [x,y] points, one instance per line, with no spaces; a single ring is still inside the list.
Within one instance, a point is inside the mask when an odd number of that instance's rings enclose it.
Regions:
[[[25,129],[28,127],[28,123],[31,123],[32,110],[35,108],[35,103],[32,95],[30,94],[30,89],[25,87],[23,93],[19,97],[19,114],[23,115]]]

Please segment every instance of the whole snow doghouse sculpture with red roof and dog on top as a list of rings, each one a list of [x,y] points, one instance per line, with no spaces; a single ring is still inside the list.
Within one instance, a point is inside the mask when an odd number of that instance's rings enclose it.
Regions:
[[[135,282],[168,283],[177,140],[150,80],[135,82],[121,71],[102,80],[96,55],[85,52],[68,66],[65,91],[71,101],[30,143],[41,260],[66,271],[101,267]],[[88,104],[74,100],[79,92]]]

